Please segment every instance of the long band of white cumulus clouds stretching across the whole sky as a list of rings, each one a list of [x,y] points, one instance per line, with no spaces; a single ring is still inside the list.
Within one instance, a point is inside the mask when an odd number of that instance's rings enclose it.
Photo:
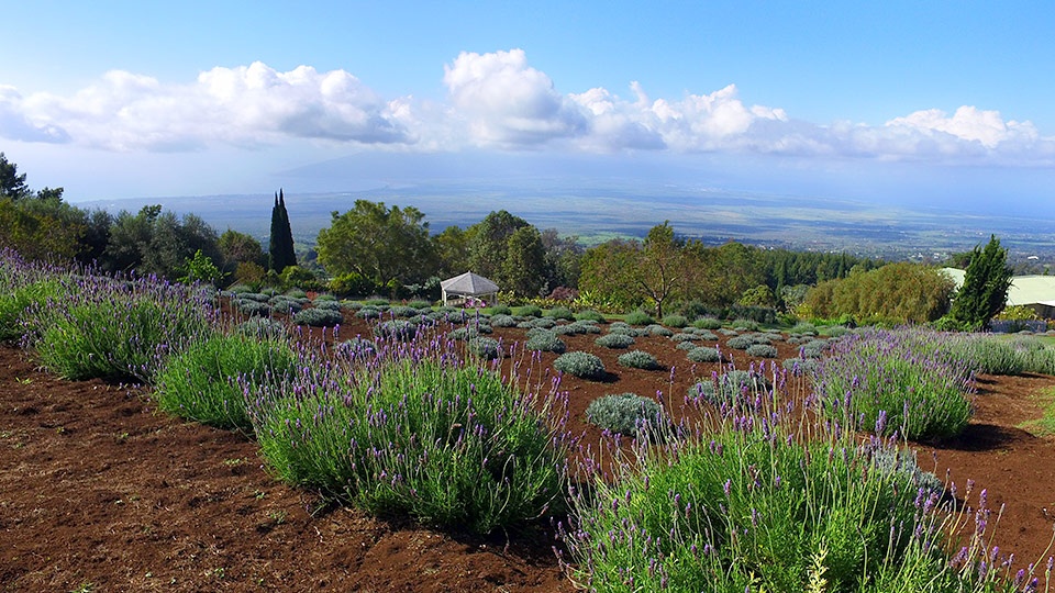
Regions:
[[[1055,138],[1031,122],[965,105],[882,125],[820,124],[749,104],[735,85],[679,98],[602,87],[560,92],[521,49],[462,53],[444,66],[443,101],[382,98],[345,70],[216,67],[185,85],[111,71],[80,91],[23,97],[0,87],[0,137],[111,150],[260,147],[291,138],[457,150],[467,146],[590,153],[724,152],[882,160],[1051,166]]]

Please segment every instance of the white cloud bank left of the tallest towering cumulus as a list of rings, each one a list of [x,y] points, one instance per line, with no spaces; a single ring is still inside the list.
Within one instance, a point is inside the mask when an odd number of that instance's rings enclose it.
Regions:
[[[351,74],[309,66],[281,72],[258,61],[213,68],[190,85],[114,70],[70,97],[30,96],[20,111],[73,142],[113,150],[258,146],[284,137],[410,139],[399,100],[382,100]]]

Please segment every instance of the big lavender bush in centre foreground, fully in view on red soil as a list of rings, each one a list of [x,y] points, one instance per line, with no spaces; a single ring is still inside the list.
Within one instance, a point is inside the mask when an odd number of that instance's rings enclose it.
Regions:
[[[253,417],[276,475],[377,515],[476,534],[559,510],[567,450],[551,399],[438,353],[373,373],[309,368],[264,390]]]

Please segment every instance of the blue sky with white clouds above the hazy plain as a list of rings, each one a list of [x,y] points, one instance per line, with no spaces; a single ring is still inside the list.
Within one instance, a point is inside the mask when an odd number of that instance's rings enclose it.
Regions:
[[[522,160],[555,178],[587,164],[598,182],[1055,217],[1050,1],[37,0],[2,14],[0,152],[71,202],[398,186],[455,161],[512,183]]]

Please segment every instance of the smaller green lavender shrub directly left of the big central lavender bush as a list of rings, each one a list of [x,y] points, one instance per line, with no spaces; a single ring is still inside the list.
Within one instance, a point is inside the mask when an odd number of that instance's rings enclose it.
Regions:
[[[171,357],[157,374],[157,406],[181,418],[249,433],[245,390],[297,367],[285,338],[213,336]]]

